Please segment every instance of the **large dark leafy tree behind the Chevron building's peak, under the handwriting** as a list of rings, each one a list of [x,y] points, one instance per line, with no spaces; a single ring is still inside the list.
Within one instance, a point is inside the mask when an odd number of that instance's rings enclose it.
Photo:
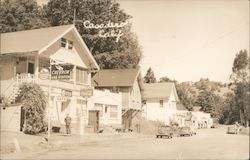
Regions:
[[[131,32],[131,23],[128,23],[132,16],[126,14],[119,3],[113,0],[50,0],[44,9],[52,26],[72,24],[75,10],[75,26],[101,69],[136,68],[138,65],[142,54],[137,37]],[[86,22],[88,26],[99,27],[86,27]],[[124,25],[103,27],[111,23]],[[100,37],[100,32],[109,36]],[[111,36],[112,33],[122,35]]]

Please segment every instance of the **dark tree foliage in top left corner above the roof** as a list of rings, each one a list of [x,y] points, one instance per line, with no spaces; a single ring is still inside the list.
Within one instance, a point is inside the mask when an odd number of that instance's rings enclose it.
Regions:
[[[0,1],[0,32],[14,32],[48,26],[35,0]]]

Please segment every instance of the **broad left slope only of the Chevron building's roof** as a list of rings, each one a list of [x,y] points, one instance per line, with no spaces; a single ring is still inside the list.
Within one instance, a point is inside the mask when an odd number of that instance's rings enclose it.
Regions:
[[[73,25],[9,32],[1,34],[1,54],[39,51],[52,40],[73,29]]]

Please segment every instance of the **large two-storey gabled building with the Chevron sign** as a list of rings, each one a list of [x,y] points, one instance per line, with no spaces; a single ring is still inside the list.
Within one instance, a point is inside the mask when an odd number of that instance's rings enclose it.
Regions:
[[[0,36],[1,96],[15,104],[21,84],[37,83],[49,96],[51,126],[64,126],[65,115],[69,113],[75,133],[83,133],[83,125],[88,122],[87,98],[91,96],[88,93],[93,91],[91,72],[99,70],[99,66],[75,26],[2,33]],[[12,114],[8,110],[11,107],[1,107],[1,130],[22,130],[24,113],[15,114],[16,110],[12,109]],[[10,116],[2,115],[17,116],[21,122],[13,123],[14,127],[8,126],[12,123],[5,122],[11,121]]]

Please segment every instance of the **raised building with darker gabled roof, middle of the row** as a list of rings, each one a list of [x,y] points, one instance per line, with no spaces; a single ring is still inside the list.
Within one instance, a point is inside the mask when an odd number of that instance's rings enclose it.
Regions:
[[[122,124],[125,129],[134,127],[134,118],[142,109],[143,81],[140,68],[104,69],[92,77],[95,89],[108,89],[122,94]]]

